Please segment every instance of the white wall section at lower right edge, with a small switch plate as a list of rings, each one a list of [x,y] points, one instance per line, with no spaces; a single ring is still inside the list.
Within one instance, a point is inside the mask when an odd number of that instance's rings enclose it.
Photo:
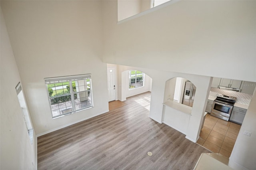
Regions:
[[[230,155],[230,160],[252,170],[256,167],[256,90],[252,95],[251,103],[248,107],[244,121],[236,138],[236,143]],[[251,136],[245,136],[244,131],[251,132]]]

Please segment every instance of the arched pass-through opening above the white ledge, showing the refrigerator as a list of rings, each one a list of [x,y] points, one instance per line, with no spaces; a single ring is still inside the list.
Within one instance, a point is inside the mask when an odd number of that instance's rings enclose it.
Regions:
[[[164,104],[190,114],[192,111],[196,86],[188,79],[175,77],[166,81]]]

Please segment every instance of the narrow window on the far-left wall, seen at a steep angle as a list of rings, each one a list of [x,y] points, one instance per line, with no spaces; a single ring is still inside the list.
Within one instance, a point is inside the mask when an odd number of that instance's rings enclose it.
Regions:
[[[26,99],[25,99],[25,96],[23,94],[20,82],[16,86],[16,93],[17,93],[17,96],[18,96],[18,100],[19,100],[19,103],[20,103],[21,110],[22,110],[23,118],[24,118],[27,130],[28,130],[28,136],[29,136],[30,142],[32,144],[32,142],[33,142],[33,133],[34,133],[33,131],[34,130],[33,130],[33,127],[32,127],[32,123],[31,123],[31,120],[30,120],[29,112],[28,112],[28,107],[27,107],[27,104],[26,104]]]

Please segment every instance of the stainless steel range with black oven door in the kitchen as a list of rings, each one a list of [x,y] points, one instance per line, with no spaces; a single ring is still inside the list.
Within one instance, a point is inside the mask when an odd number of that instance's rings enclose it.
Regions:
[[[213,102],[211,115],[228,121],[235,103],[236,97],[218,94]]]

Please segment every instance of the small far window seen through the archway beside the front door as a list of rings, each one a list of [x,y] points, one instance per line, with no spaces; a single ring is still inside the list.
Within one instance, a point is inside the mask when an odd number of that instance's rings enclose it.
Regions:
[[[144,73],[137,70],[129,71],[129,89],[134,89],[144,86]]]

